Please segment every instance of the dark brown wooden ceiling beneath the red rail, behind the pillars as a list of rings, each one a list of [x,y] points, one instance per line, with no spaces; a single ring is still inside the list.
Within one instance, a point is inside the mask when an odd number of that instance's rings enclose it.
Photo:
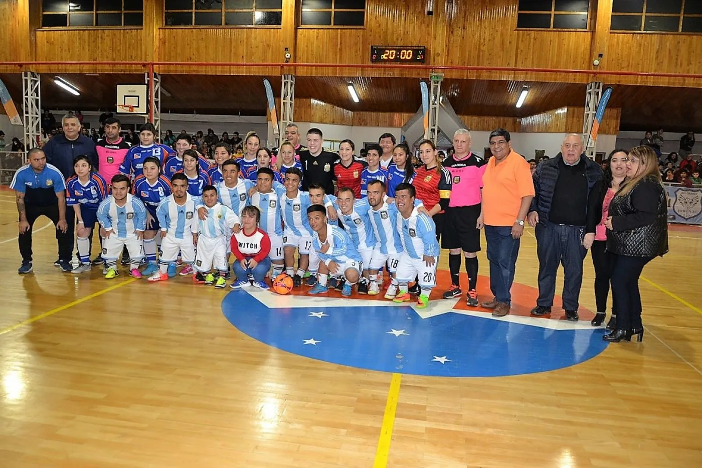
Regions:
[[[81,91],[72,96],[42,74],[42,105],[51,109],[104,110],[114,108],[116,85],[142,83],[143,74],[61,74]],[[19,74],[0,74],[15,102],[21,103]],[[161,112],[265,115],[263,77],[249,75],[162,75]],[[274,93],[280,77],[269,77]],[[348,94],[353,82],[360,103]],[[522,108],[515,103],[523,86],[529,96]],[[446,79],[442,90],[459,115],[526,117],[565,106],[582,107],[585,85],[549,82],[505,82]],[[390,77],[297,77],[296,97],[314,98],[352,111],[416,112],[421,106],[419,80]],[[610,106],[622,109],[621,130],[702,131],[702,89],[662,86],[616,86]]]

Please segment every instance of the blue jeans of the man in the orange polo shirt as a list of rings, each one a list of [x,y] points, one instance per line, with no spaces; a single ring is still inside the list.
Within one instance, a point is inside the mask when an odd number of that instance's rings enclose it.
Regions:
[[[485,226],[485,240],[490,261],[490,290],[498,302],[510,304],[519,239],[512,238],[512,226]]]

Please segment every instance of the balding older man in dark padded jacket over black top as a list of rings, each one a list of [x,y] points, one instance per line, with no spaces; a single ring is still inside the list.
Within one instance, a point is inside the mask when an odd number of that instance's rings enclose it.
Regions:
[[[534,171],[529,225],[536,228],[538,299],[533,316],[551,313],[556,273],[563,264],[563,308],[571,322],[578,320],[578,298],[583,283],[583,260],[595,240],[597,196],[602,183],[600,164],[583,151],[583,137],[569,134],[561,152]]]

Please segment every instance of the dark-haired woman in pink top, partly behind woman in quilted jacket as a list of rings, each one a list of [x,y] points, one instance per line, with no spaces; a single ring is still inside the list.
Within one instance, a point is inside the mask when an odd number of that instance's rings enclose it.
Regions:
[[[595,241],[592,242],[590,252],[592,255],[592,265],[595,266],[595,302],[597,303],[597,314],[592,319],[592,326],[599,327],[607,316],[607,296],[609,295],[609,279],[611,273],[611,254],[607,252],[607,228],[604,221],[609,213],[609,202],[614,198],[619,186],[626,176],[626,160],[628,152],[626,150],[614,150],[609,153],[609,168],[604,171],[602,179],[602,192],[600,200],[602,202],[602,217],[600,223],[595,228]],[[612,308],[612,316],[607,323],[607,330],[616,329],[616,311]]]

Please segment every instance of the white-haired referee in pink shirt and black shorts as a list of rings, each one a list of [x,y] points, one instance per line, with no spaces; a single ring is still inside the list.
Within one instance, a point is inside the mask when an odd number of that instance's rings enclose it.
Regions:
[[[475,287],[478,279],[478,258],[480,250],[480,229],[482,219],[482,176],[486,162],[470,152],[470,131],[458,129],[453,134],[453,155],[446,157],[444,167],[451,173],[451,198],[446,208],[444,232],[441,235],[442,248],[449,249],[449,270],[451,287],[444,292],[444,299],[459,297],[462,294],[461,251],[465,256],[465,271],[468,273],[468,305],[478,306]]]

